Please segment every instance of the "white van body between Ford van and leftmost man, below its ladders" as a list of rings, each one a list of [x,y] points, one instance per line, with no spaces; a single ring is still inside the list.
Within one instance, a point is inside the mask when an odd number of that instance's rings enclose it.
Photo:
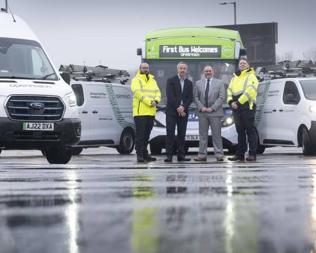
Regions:
[[[74,81],[70,83],[82,121],[80,142],[73,154],[83,148],[113,147],[127,154],[135,144],[132,92],[129,85]]]

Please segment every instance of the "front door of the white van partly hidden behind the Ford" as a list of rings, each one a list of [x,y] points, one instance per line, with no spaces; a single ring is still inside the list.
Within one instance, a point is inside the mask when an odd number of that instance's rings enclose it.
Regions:
[[[83,87],[81,84],[71,84],[74,94],[76,95],[78,114],[81,120],[81,138],[80,141],[88,141],[90,139],[90,119],[88,110],[87,99],[88,96],[87,88]]]

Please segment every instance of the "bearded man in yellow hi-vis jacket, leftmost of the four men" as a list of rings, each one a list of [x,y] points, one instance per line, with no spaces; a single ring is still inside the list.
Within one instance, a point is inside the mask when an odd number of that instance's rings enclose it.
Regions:
[[[135,150],[137,162],[156,161],[148,154],[149,136],[156,115],[156,105],[161,102],[161,92],[154,76],[149,74],[149,65],[142,63],[132,79],[133,118],[136,126]]]

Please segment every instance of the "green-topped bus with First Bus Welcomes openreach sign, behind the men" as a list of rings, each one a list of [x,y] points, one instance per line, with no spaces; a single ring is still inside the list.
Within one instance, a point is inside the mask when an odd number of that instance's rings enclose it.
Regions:
[[[177,63],[184,61],[188,64],[187,78],[193,85],[205,77],[203,69],[210,65],[214,69],[214,77],[221,79],[227,88],[232,73],[238,69],[240,56],[245,54],[246,50],[238,31],[211,27],[180,27],[147,32],[142,47],[137,48],[137,55],[141,55],[142,62],[149,64],[150,73],[155,76],[162,93],[162,103],[157,107],[155,124],[150,135],[152,153],[160,153],[165,147],[166,82],[169,77],[176,75]],[[231,110],[228,105],[223,106],[223,147],[234,152],[237,134]],[[199,146],[199,124],[194,111],[195,105],[192,103],[186,133],[186,149]],[[210,131],[209,146],[212,146]]]

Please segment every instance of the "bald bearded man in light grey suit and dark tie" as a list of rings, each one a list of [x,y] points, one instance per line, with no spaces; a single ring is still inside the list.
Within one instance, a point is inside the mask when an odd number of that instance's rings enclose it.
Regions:
[[[213,68],[206,66],[203,70],[205,79],[196,82],[193,100],[196,105],[195,115],[199,116],[199,156],[195,161],[207,160],[208,129],[211,127],[214,155],[217,161],[223,159],[222,116],[225,98],[224,83],[213,78]]]

